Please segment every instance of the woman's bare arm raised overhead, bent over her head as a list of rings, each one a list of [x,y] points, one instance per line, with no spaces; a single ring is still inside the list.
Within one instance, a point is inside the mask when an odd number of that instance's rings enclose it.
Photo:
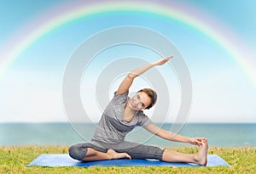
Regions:
[[[149,70],[150,68],[156,66],[156,65],[164,65],[166,62],[171,59],[173,56],[169,56],[165,59],[160,59],[154,63],[143,65],[142,67],[139,67],[135,70],[131,70],[131,72],[125,76],[125,79],[121,82],[119,85],[119,88],[116,92],[116,94],[126,93],[129,91],[129,88],[131,87],[131,84],[133,80],[137,77],[142,75],[145,71]]]

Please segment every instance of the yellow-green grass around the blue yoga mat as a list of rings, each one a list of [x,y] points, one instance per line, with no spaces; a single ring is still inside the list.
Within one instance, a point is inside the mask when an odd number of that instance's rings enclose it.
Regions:
[[[196,148],[172,149],[195,153]],[[67,146],[3,146],[0,147],[0,173],[256,173],[256,148],[210,148],[232,167],[26,167],[39,154],[67,153]]]

